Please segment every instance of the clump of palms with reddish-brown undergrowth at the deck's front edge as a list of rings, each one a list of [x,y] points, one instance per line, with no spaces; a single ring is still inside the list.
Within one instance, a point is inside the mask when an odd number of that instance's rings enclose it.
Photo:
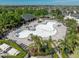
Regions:
[[[38,55],[39,54],[50,54],[50,52],[52,51],[52,46],[51,46],[51,38],[49,40],[43,40],[41,37],[38,36],[33,36],[32,35],[32,39],[34,40],[34,47],[37,47],[38,50]],[[33,45],[33,44],[32,44]]]

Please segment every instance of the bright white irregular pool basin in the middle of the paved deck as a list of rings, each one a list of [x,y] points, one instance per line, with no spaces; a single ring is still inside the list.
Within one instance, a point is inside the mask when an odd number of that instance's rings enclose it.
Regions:
[[[37,35],[40,37],[49,37],[56,34],[57,30],[53,27],[56,22],[48,22],[47,24],[39,24],[36,26],[36,30],[23,30],[18,33],[19,38],[26,38],[30,34]]]

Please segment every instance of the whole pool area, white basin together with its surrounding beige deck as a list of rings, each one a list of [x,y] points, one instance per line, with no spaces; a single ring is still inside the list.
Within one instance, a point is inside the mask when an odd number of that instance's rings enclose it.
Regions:
[[[34,27],[36,30],[28,30],[26,27]],[[58,26],[60,25],[60,26]],[[32,26],[32,27],[31,27]],[[52,37],[52,40],[59,40],[64,39],[66,36],[67,27],[64,26],[62,23],[57,22],[55,20],[44,20],[41,23],[38,23],[38,21],[33,21],[29,23],[29,25],[23,25],[20,28],[10,32],[7,35],[7,38],[13,41],[16,41],[18,44],[25,44],[29,46],[30,44],[34,43],[33,41],[29,41],[30,34],[38,35],[41,37],[44,37],[44,40],[48,40],[49,36]],[[16,35],[19,35],[18,37]]]

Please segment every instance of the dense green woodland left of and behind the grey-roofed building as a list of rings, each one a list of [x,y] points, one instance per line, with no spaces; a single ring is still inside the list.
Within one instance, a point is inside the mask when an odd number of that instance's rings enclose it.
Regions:
[[[6,35],[6,32],[11,30],[12,28],[16,28],[21,26],[23,14],[33,14],[35,16],[44,16],[48,14],[46,9],[40,8],[25,8],[25,7],[7,7],[0,8],[0,38]]]

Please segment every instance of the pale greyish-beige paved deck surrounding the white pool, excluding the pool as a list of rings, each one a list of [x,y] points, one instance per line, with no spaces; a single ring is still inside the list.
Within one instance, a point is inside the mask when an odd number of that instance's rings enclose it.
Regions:
[[[54,20],[45,20],[45,22],[48,22],[48,21],[54,21]],[[22,25],[19,29],[10,32],[7,35],[7,38],[11,39],[13,41],[16,41],[16,43],[18,43],[18,44],[23,43],[23,44],[29,46],[31,43],[34,43],[34,42],[28,40],[29,37],[27,37],[27,38],[18,38],[18,37],[16,37],[16,32],[19,31],[19,30],[27,30],[26,27],[37,25],[37,24],[38,24],[38,21],[33,21],[33,22],[29,23],[29,25]],[[60,26],[58,26],[58,25],[60,25]],[[54,27],[57,29],[57,33],[56,33],[56,35],[52,36],[52,39],[53,40],[64,39],[65,35],[66,35],[67,27],[64,26],[62,23],[59,23],[59,22]],[[46,40],[48,38],[44,38],[44,39]]]

